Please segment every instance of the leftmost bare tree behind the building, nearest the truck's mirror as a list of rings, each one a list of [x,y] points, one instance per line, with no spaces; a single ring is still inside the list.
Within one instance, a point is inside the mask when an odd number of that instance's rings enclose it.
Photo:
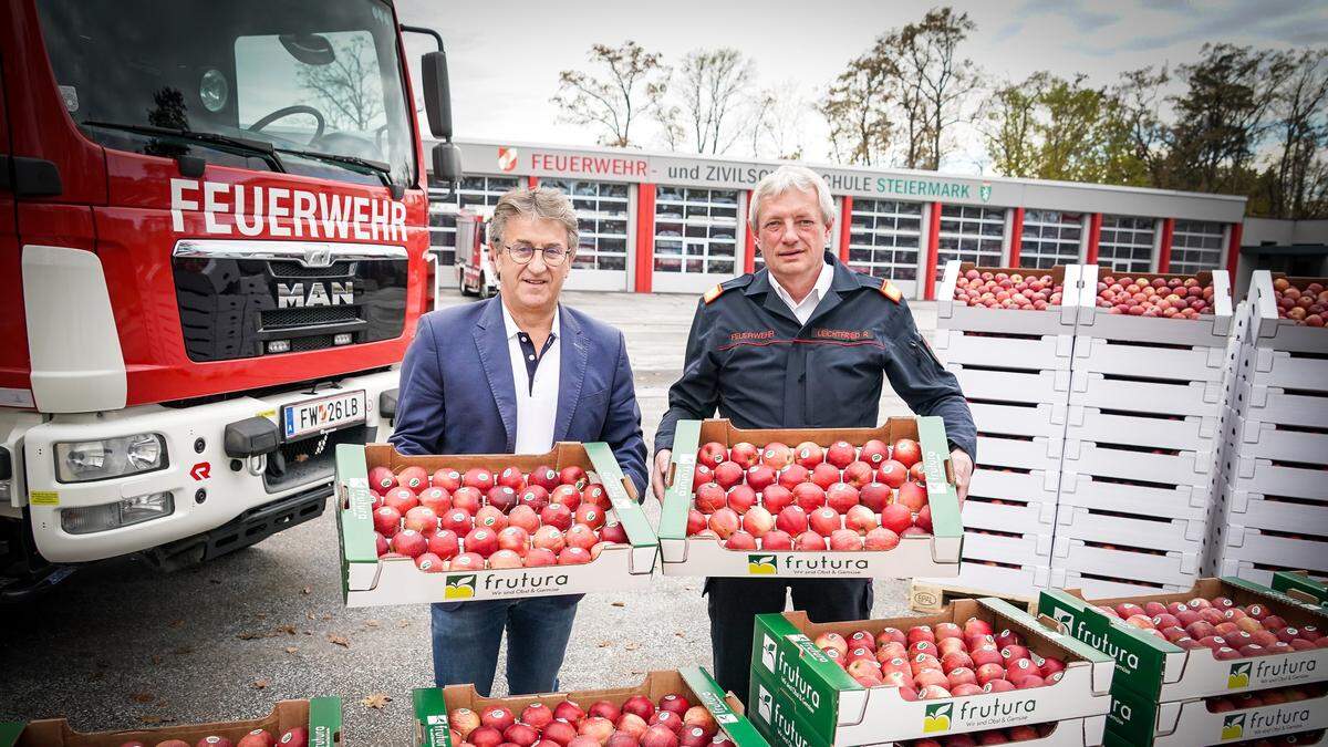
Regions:
[[[602,126],[600,144],[632,145],[633,121],[663,94],[667,74],[660,54],[628,40],[618,48],[595,44],[588,57],[603,70],[562,70],[551,101],[562,108],[566,121]]]

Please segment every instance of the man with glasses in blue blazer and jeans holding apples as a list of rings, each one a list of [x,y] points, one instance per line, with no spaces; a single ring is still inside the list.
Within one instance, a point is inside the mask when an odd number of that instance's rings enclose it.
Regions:
[[[498,201],[489,257],[499,295],[433,311],[401,366],[392,444],[406,455],[543,453],[604,441],[644,494],[645,441],[623,334],[558,303],[576,250],[572,202],[552,189]],[[438,687],[493,687],[507,630],[511,694],[558,690],[580,594],[433,605]]]

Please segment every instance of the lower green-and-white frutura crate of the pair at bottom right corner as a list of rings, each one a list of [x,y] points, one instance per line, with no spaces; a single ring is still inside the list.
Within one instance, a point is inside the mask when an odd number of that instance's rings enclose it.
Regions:
[[[1109,747],[1191,747],[1266,739],[1328,726],[1328,695],[1212,712],[1203,699],[1157,703],[1121,690],[1106,723]]]

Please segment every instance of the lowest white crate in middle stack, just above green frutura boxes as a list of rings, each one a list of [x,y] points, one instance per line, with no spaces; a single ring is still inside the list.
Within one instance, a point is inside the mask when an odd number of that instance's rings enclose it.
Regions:
[[[1194,584],[1202,564],[1203,556],[1195,552],[1093,542],[1064,534],[1056,537],[1052,546],[1053,576],[1056,569],[1062,569],[1146,585],[1185,586]]]

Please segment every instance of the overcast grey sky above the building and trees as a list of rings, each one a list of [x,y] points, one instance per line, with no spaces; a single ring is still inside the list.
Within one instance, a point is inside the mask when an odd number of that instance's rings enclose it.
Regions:
[[[761,86],[781,85],[814,101],[882,32],[922,19],[939,3],[914,0],[724,1],[509,1],[398,0],[402,23],[440,31],[448,44],[457,136],[511,142],[594,145],[596,132],[559,121],[550,102],[558,73],[587,68],[595,43],[631,39],[676,64],[691,49],[734,47],[752,58]],[[954,3],[977,31],[963,53],[995,78],[1036,70],[1082,72],[1096,85],[1122,70],[1193,61],[1208,41],[1303,48],[1328,40],[1328,3],[1292,0],[1097,1],[1023,0]],[[418,53],[429,44],[408,37]],[[417,62],[413,68],[417,68]],[[806,158],[829,162],[825,124],[803,117]],[[633,140],[636,125],[633,125]],[[644,138],[663,150],[663,142]],[[980,173],[981,148],[943,170]],[[740,144],[730,156],[750,156]]]

